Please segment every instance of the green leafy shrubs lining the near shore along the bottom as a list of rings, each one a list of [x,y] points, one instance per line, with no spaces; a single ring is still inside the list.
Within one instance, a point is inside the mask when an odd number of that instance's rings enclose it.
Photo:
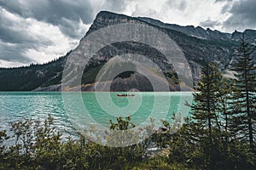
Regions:
[[[133,127],[130,119],[119,117],[110,127]],[[44,122],[26,119],[12,124],[15,144],[4,147],[9,140],[0,133],[0,169],[255,169],[256,153],[250,144],[219,139],[212,130],[212,142],[198,132],[195,123],[187,120],[177,133],[164,122],[165,133],[154,133],[142,144],[108,147],[79,139],[61,140],[53,118]],[[122,123],[122,124],[119,124]],[[130,126],[131,125],[131,126]],[[206,130],[205,133],[208,133]],[[78,133],[79,134],[79,133]],[[148,152],[150,143],[162,148]]]

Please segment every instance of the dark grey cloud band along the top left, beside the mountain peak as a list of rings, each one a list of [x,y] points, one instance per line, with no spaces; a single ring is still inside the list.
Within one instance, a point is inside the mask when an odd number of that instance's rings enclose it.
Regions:
[[[93,20],[91,4],[83,0],[75,2],[68,0],[0,0],[0,6],[23,18],[33,18],[59,26],[62,33],[68,37],[81,37],[81,32],[77,29],[79,21],[82,20],[84,24],[89,24]],[[62,19],[72,20],[73,25],[76,26],[67,25]],[[70,27],[65,28],[67,26]]]

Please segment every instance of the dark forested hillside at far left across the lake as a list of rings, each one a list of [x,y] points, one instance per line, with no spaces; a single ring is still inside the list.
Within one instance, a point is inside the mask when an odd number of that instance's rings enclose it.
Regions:
[[[31,91],[61,82],[66,56],[44,65],[0,69],[0,91]]]

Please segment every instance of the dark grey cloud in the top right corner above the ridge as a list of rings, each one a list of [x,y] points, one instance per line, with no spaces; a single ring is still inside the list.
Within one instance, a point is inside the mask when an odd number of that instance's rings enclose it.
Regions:
[[[233,30],[244,30],[256,28],[256,1],[243,0],[233,3],[229,12],[230,18],[224,21],[224,27]],[[247,27],[245,27],[247,26]]]

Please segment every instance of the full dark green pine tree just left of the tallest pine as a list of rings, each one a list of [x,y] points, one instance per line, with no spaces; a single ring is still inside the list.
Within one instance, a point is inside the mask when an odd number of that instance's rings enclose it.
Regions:
[[[198,92],[194,93],[192,123],[189,124],[194,129],[191,143],[198,144],[205,166],[217,169],[217,162],[223,161],[223,136],[219,119],[222,75],[217,64],[210,62],[203,66],[201,74],[201,81],[196,88]]]

